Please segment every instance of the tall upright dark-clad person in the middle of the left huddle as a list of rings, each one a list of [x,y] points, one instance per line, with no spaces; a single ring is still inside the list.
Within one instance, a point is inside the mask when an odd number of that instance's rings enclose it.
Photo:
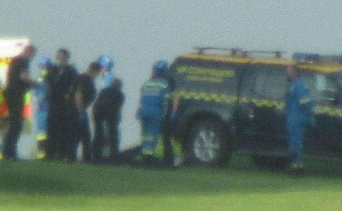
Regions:
[[[56,59],[59,64],[56,66],[56,72],[51,76],[51,106],[48,114],[48,159],[56,155],[58,158],[64,159],[68,153],[66,144],[72,131],[67,126],[71,118],[67,115],[67,110],[71,104],[71,89],[78,77],[78,71],[75,67],[68,64],[69,58],[68,50],[58,50]]]

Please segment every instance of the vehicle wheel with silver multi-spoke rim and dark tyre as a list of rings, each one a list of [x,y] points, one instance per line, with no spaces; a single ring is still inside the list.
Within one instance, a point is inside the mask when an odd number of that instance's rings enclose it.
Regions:
[[[226,166],[231,154],[228,137],[227,129],[218,121],[195,124],[189,137],[191,161],[212,167]]]

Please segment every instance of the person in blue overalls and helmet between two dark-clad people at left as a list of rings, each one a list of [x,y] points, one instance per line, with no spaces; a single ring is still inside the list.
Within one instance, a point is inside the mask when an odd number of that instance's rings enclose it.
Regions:
[[[52,63],[49,57],[41,56],[38,59],[38,67],[40,68],[40,77],[35,87],[37,99],[35,120],[37,124],[36,140],[38,143],[38,159],[46,157],[47,144],[47,117],[49,111],[49,75],[52,71]]]

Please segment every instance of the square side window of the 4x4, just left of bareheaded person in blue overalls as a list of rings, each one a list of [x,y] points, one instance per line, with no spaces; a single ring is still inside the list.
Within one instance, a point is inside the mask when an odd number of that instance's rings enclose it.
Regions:
[[[262,69],[256,70],[255,94],[268,100],[284,100],[287,86],[285,69]]]

